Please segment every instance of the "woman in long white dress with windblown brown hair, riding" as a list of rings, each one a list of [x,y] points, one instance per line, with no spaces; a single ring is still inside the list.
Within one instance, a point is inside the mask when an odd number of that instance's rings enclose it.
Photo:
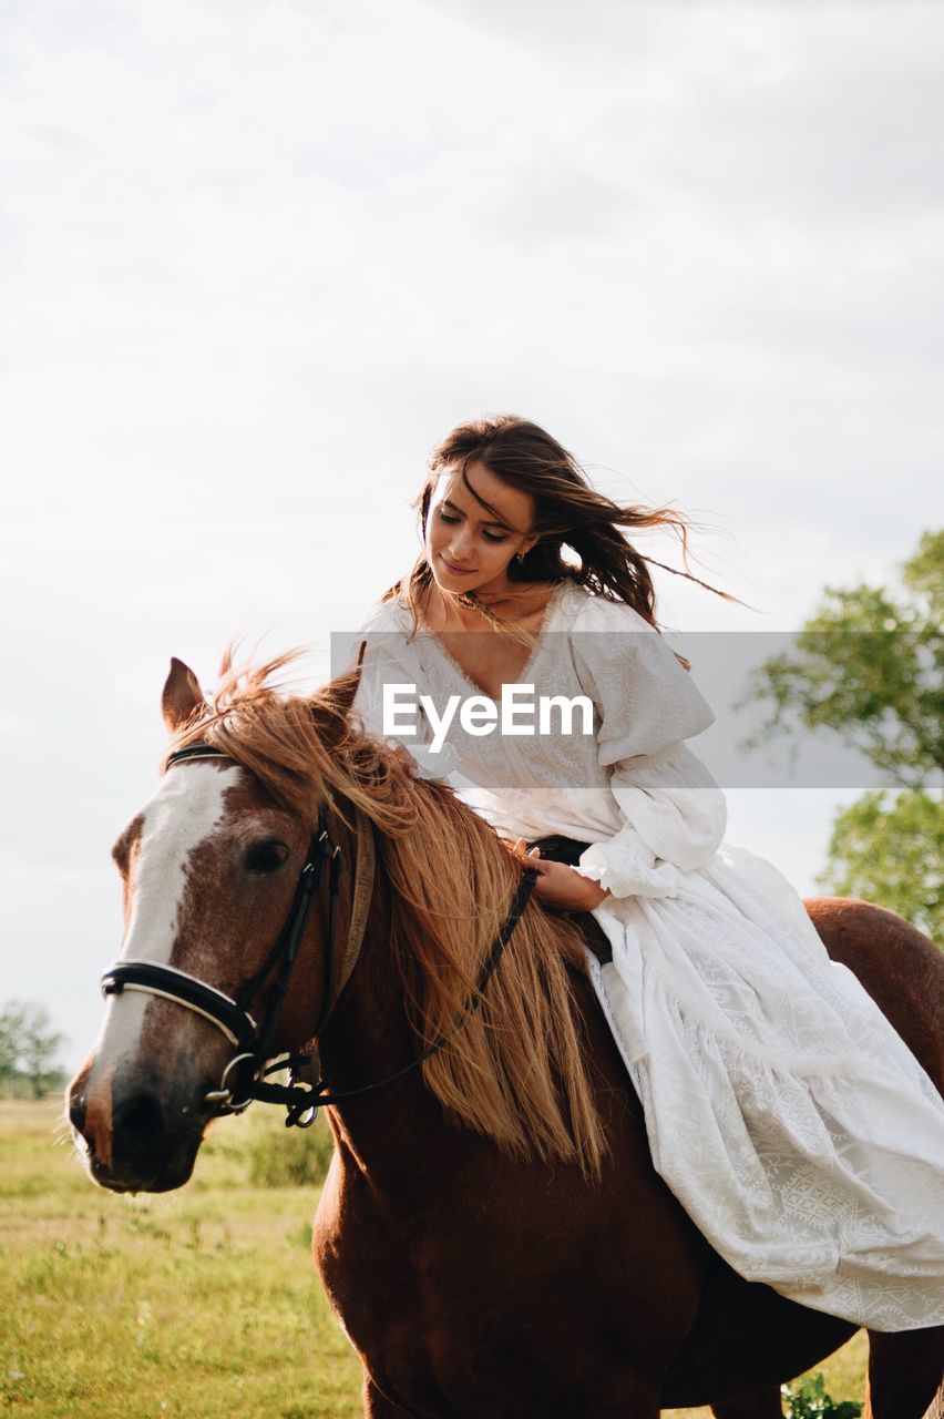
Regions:
[[[723,843],[685,742],[713,715],[622,532],[682,521],[617,507],[513,416],[452,430],[418,502],[422,555],[361,627],[364,722],[516,853],[587,843],[573,867],[534,858],[536,893],[607,934],[590,969],[655,1166],[721,1256],[872,1330],[944,1323],[944,1103],[792,887]]]

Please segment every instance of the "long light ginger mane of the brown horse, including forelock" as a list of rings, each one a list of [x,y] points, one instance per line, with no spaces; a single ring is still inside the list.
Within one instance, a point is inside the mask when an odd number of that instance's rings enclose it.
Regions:
[[[350,708],[357,671],[288,695],[272,677],[292,658],[234,670],[227,653],[211,701],[170,748],[214,744],[309,822],[322,800],[349,827],[364,813],[390,885],[393,964],[417,1043],[449,1033],[422,1066],[428,1088],[454,1121],[503,1151],[597,1174],[605,1139],[573,995],[573,972],[584,969],[577,928],[532,900],[479,1007],[452,1033],[478,995],[520,867],[451,788],[411,779],[364,731]]]

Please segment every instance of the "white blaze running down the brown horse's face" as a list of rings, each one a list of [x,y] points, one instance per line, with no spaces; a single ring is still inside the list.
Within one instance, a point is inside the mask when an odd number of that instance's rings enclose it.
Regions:
[[[177,935],[187,884],[187,863],[225,816],[224,793],[240,769],[215,763],[184,763],[167,771],[142,815],[137,850],[128,884],[130,904],[123,961],[167,965]],[[111,1077],[119,1060],[140,1040],[150,1002],[140,990],[108,996],[105,1022],[95,1049],[95,1070]]]

